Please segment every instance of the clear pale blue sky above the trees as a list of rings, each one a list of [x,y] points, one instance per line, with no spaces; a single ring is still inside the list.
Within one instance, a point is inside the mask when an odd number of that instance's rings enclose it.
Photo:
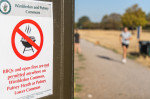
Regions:
[[[134,4],[138,4],[146,13],[150,12],[150,0],[75,0],[75,21],[86,15],[92,22],[100,22],[104,15],[123,14]]]

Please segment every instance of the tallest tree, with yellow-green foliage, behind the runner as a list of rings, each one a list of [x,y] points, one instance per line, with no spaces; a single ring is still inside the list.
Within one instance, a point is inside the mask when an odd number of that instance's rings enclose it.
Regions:
[[[130,28],[145,26],[147,23],[146,14],[144,11],[142,11],[141,8],[138,7],[137,4],[135,4],[126,10],[124,15],[122,16],[122,23],[124,26]]]

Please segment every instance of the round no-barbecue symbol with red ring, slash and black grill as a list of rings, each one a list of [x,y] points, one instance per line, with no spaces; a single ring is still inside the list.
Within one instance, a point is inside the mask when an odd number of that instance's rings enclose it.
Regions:
[[[35,43],[36,39],[35,39],[34,36],[27,36],[27,35],[20,29],[20,27],[21,27],[22,25],[24,25],[24,24],[32,24],[32,25],[34,25],[34,26],[37,28],[37,30],[38,30],[38,32],[39,32],[39,35],[40,35],[40,39],[41,39],[40,45],[38,45],[38,44]],[[31,32],[30,27],[29,27],[29,26],[26,27],[26,30],[25,30],[25,31],[28,31],[28,33]],[[32,50],[33,52],[34,52],[34,50],[33,50],[32,47],[34,47],[34,48],[37,50],[37,52],[34,53],[34,54],[31,55],[31,56],[22,55],[22,54],[18,51],[18,49],[17,49],[17,47],[16,47],[16,43],[15,43],[15,37],[16,37],[17,33],[22,37],[22,38],[21,38],[21,42],[22,42],[22,44],[23,44],[24,47],[25,47],[24,50],[23,50],[23,53],[25,53],[25,51],[27,51],[26,48],[29,48],[29,47],[31,48],[30,50]],[[25,61],[32,60],[32,59],[36,58],[36,57],[39,55],[39,53],[41,52],[41,49],[42,49],[42,47],[43,47],[43,32],[42,32],[42,29],[41,29],[41,27],[38,25],[38,23],[36,23],[36,22],[33,21],[33,20],[30,20],[30,19],[22,20],[21,22],[19,22],[19,23],[16,25],[16,27],[15,27],[14,30],[13,30],[12,38],[11,38],[11,43],[12,43],[12,48],[13,48],[15,54],[16,54],[20,59],[25,60]]]

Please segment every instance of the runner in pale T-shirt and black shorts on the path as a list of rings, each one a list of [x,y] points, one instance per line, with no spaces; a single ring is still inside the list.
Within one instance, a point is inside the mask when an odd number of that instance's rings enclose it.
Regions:
[[[124,31],[120,34],[120,42],[122,44],[122,48],[123,48],[123,59],[122,62],[126,63],[126,58],[127,58],[127,49],[129,47],[130,44],[130,40],[131,40],[131,33],[128,31],[128,28],[125,27]]]

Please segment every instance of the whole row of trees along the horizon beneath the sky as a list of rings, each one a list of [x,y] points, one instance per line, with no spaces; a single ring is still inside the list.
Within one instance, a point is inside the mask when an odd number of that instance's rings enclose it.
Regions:
[[[123,15],[112,13],[104,15],[101,22],[92,22],[88,16],[82,16],[75,24],[76,28],[81,29],[121,29],[122,27],[135,29],[137,26],[142,26],[145,29],[150,29],[150,13],[147,15],[137,5],[133,5],[126,9]]]

